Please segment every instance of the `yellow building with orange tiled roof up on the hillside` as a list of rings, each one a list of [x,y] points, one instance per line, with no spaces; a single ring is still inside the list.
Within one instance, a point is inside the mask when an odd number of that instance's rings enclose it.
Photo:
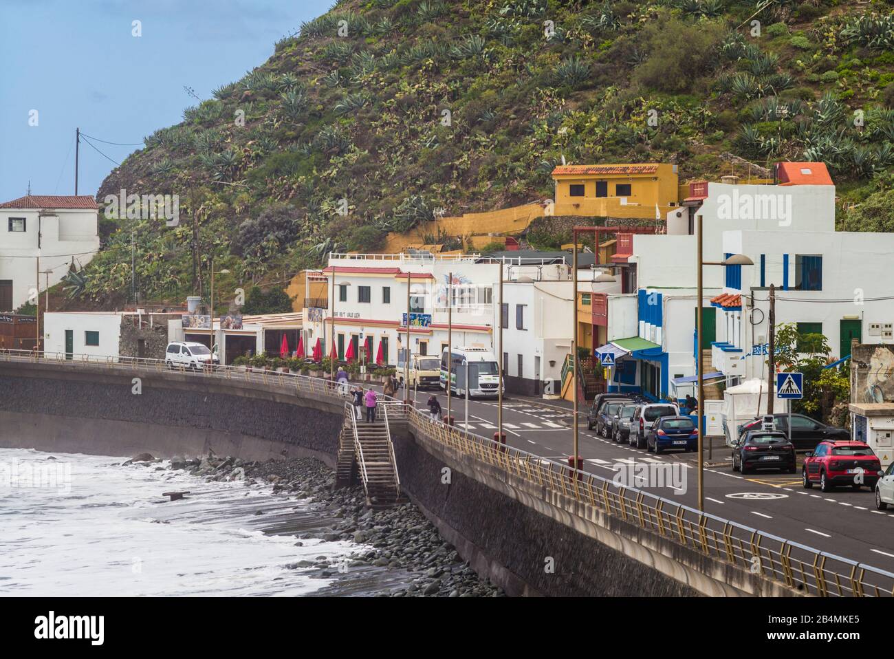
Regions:
[[[553,215],[663,219],[679,206],[677,165],[559,165]]]

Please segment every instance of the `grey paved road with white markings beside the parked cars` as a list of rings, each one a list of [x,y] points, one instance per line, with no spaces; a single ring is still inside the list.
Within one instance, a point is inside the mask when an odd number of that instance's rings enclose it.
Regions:
[[[417,393],[417,408],[433,392]],[[437,391],[446,414],[446,396]],[[453,397],[452,413],[460,427],[464,422],[464,401]],[[470,401],[468,429],[491,436],[496,430],[496,401]],[[588,472],[613,477],[619,465],[637,463],[679,464],[686,471],[685,492],[670,487],[645,487],[647,491],[696,508],[697,475],[694,453],[654,455],[645,449],[614,444],[595,431],[587,430],[581,417],[578,430],[580,454]],[[571,413],[548,403],[506,400],[503,403],[503,431],[510,446],[552,460],[567,460],[572,450]],[[714,460],[725,460],[729,450],[714,452]],[[835,553],[882,570],[894,571],[894,512],[876,511],[872,491],[841,488],[823,493],[806,490],[797,474],[766,471],[741,476],[731,466],[704,470],[704,509],[727,520],[759,528],[804,545]]]

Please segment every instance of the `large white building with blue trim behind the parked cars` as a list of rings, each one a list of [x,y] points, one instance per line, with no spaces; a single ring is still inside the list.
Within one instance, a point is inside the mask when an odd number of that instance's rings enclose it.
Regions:
[[[672,393],[673,379],[696,372],[698,215],[704,261],[744,254],[755,264],[704,266],[705,372],[720,372],[728,384],[767,375],[771,283],[777,326],[824,334],[836,357],[848,357],[852,338],[894,340],[886,275],[894,234],[836,232],[835,188],[822,163],[780,163],[777,177],[777,185],[693,184],[697,194],[668,215],[668,234],[632,236],[620,267],[636,281],[635,335],[647,343],[618,351],[637,363],[625,365],[628,381],[616,387],[659,397]],[[608,296],[610,326],[614,316],[629,316],[629,298]],[[621,325],[621,334],[631,329]]]

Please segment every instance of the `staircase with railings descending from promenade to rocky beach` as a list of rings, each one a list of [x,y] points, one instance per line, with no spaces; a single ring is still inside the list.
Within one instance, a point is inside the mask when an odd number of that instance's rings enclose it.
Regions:
[[[388,404],[376,406],[376,420],[358,421],[350,403],[344,406],[344,422],[339,437],[336,485],[348,485],[359,477],[367,493],[367,503],[388,506],[401,497],[401,479],[394,459],[389,427]]]

